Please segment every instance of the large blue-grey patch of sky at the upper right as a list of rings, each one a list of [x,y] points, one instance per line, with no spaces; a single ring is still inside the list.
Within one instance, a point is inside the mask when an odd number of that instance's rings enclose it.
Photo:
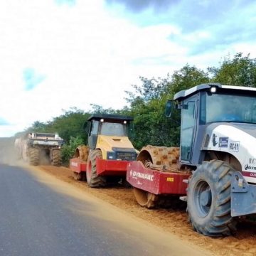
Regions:
[[[169,24],[169,40],[188,47],[188,56],[227,50],[233,43],[255,43],[255,1],[106,0],[119,17],[137,26]],[[198,36],[198,38],[197,38]]]

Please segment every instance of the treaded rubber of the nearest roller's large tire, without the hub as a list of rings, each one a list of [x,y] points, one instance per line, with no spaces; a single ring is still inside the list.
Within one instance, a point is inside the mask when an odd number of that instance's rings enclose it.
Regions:
[[[204,161],[188,179],[188,220],[198,233],[213,237],[235,233],[236,221],[230,215],[230,179],[233,171],[235,170],[224,161]],[[212,183],[216,193],[215,206],[211,205],[210,211],[203,222],[201,221],[202,218],[196,214],[197,209],[192,198],[193,189],[196,189],[193,187],[195,186],[194,183],[202,177],[208,183]]]

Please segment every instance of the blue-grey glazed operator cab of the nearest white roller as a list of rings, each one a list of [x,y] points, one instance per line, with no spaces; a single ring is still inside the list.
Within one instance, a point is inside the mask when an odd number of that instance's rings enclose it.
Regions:
[[[176,93],[174,102],[181,109],[181,164],[196,166],[204,160],[208,127],[256,124],[256,88],[202,84]],[[171,101],[166,104],[166,115],[171,115]]]

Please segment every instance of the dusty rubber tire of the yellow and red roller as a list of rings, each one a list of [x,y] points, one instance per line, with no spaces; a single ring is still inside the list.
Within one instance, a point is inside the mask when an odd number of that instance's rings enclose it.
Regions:
[[[94,149],[90,151],[86,171],[87,185],[90,186],[90,188],[103,188],[107,185],[106,177],[97,175],[97,158],[102,159],[102,152],[100,149]]]

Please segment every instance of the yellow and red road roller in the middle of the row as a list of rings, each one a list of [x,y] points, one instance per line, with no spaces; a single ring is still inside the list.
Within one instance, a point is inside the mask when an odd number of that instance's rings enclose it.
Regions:
[[[127,164],[135,161],[137,151],[129,141],[132,117],[92,114],[87,119],[88,142],[75,150],[70,169],[77,180],[87,180],[92,188],[109,183],[126,183]]]

